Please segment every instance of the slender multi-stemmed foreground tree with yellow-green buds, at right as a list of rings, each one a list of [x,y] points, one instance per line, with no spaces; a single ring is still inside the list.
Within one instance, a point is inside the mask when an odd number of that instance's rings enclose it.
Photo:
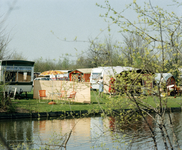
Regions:
[[[137,60],[140,57],[140,60],[142,61],[140,68],[142,71],[140,73],[137,73],[135,71],[128,72],[127,74],[124,73],[119,78],[119,84],[117,84],[119,87],[115,88],[118,92],[122,90],[124,95],[128,98],[122,101],[123,97],[119,97],[117,101],[111,101],[111,103],[109,103],[109,106],[112,106],[112,108],[115,109],[121,109],[123,108],[122,105],[125,104],[129,106],[131,111],[116,112],[114,115],[120,118],[118,124],[123,125],[124,123],[126,123],[126,121],[129,124],[133,124],[131,116],[132,114],[134,114],[135,116],[137,116],[136,120],[140,119],[145,124],[147,124],[151,134],[151,138],[153,140],[153,148],[158,149],[158,137],[156,136],[156,131],[152,128],[149,121],[146,119],[147,116],[149,116],[156,123],[161,133],[159,137],[163,139],[164,148],[179,148],[179,143],[175,132],[173,132],[175,143],[172,143],[169,135],[169,130],[174,131],[170,113],[167,114],[167,120],[170,122],[169,124],[171,128],[167,129],[166,127],[166,118],[164,118],[164,116],[166,114],[166,109],[168,109],[167,104],[169,99],[161,97],[161,89],[163,88],[161,86],[161,80],[157,85],[157,92],[151,90],[149,86],[144,86],[147,91],[150,91],[150,94],[154,92],[157,95],[151,97],[151,101],[155,103],[155,106],[150,105],[148,102],[145,101],[145,97],[142,96],[142,93],[145,91],[142,90],[140,95],[137,95],[137,89],[138,87],[140,87],[141,89],[144,88],[141,84],[139,84],[140,80],[148,81],[149,77],[151,79],[154,78],[151,75],[152,72],[150,72],[150,70],[147,68],[147,66],[149,65],[152,65],[155,68],[155,72],[164,73],[169,71],[171,73],[177,72],[178,74],[180,54],[179,44],[181,43],[179,42],[180,32],[178,29],[181,26],[181,17],[178,17],[174,12],[164,10],[159,6],[153,6],[150,0],[149,3],[144,2],[144,6],[139,6],[136,0],[134,0],[133,3],[129,4],[126,7],[126,10],[129,10],[131,8],[138,15],[136,18],[137,21],[132,21],[132,19],[126,17],[123,14],[124,10],[121,12],[116,11],[110,5],[109,1],[105,2],[105,6],[98,6],[107,10],[107,12],[102,15],[102,17],[110,19],[113,24],[117,25],[119,27],[119,32],[121,32],[122,34],[130,33],[146,41],[145,43],[141,43],[141,45],[137,46],[137,48],[141,50],[143,47],[145,47],[142,57],[139,55],[132,56],[133,51],[130,50],[134,48],[134,46],[131,45],[133,44],[132,42],[127,41],[127,44],[130,44],[128,46],[128,53],[130,55],[127,55],[129,56],[129,63],[134,66],[133,60]],[[108,30],[110,30],[110,28]],[[128,38],[125,38],[125,41],[127,39]],[[134,49],[136,51],[136,48]],[[151,55],[152,51],[153,55]],[[175,60],[174,64],[171,63],[173,70],[165,68],[166,63],[168,61],[171,61],[166,57],[168,51],[173,52],[173,60]],[[155,63],[151,60],[155,60]],[[148,76],[146,76],[145,74],[148,74]],[[125,87],[125,90],[123,90],[123,87]],[[150,96],[148,95],[148,97]],[[153,117],[153,115],[148,110],[152,110],[157,118]]]

